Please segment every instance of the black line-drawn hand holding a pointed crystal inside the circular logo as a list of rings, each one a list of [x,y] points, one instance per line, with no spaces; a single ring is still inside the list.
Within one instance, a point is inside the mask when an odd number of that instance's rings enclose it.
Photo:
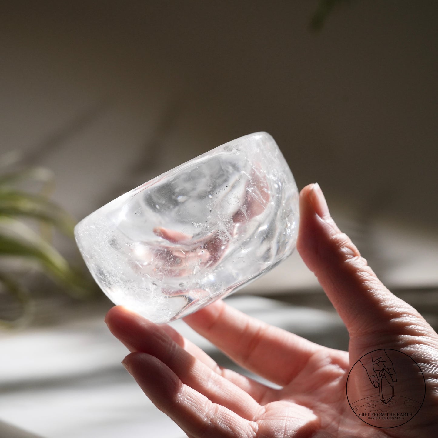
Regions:
[[[362,357],[360,363],[367,371],[374,388],[379,388],[381,402],[388,405],[394,397],[394,382],[397,381],[397,376],[386,351],[372,351]]]

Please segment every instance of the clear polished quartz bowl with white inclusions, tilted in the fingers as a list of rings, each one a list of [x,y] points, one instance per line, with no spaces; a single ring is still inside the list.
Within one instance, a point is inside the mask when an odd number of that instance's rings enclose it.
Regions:
[[[272,269],[292,253],[297,226],[292,173],[259,132],[109,202],[75,236],[110,300],[164,323]]]

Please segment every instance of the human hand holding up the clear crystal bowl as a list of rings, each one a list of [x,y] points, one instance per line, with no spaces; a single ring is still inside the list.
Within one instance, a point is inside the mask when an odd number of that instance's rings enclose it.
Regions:
[[[434,436],[438,335],[380,283],[330,217],[319,186],[301,191],[300,214],[298,251],[343,319],[349,353],[267,325],[221,300],[184,318],[235,362],[282,387],[272,389],[219,367],[170,326],[116,306],[106,322],[132,352],[125,367],[190,438]],[[394,429],[360,421],[346,399],[353,364],[385,349],[415,360],[426,384],[420,412]]]

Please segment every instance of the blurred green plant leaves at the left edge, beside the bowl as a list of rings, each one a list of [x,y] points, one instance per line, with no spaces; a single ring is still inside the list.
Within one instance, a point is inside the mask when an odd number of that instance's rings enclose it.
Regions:
[[[14,321],[0,319],[0,324],[14,326],[32,314],[32,294],[20,278],[23,270],[43,272],[72,297],[88,297],[94,288],[84,270],[72,267],[51,244],[53,230],[74,237],[74,220],[49,199],[53,173],[39,167],[8,171],[10,161],[0,159],[0,286],[21,304],[22,313]],[[11,268],[14,262],[20,268]]]

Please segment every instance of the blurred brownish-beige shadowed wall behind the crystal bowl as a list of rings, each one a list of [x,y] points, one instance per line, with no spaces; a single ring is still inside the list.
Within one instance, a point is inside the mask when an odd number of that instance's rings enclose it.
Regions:
[[[52,168],[78,218],[266,130],[365,255],[381,220],[436,242],[437,2],[357,0],[319,33],[313,1],[6,3],[0,149]]]

